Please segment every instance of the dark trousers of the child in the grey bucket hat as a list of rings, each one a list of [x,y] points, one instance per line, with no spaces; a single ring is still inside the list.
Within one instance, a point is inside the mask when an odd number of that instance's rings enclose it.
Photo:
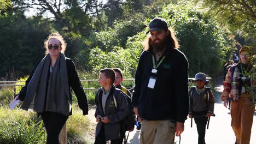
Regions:
[[[196,117],[195,123],[197,128],[197,134],[198,134],[198,144],[205,144],[205,128],[206,123],[208,120],[208,117]]]

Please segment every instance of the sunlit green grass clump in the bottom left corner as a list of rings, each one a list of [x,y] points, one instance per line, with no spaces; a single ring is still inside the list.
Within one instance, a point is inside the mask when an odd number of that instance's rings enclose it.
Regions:
[[[0,108],[0,143],[45,143],[43,121],[34,112]]]

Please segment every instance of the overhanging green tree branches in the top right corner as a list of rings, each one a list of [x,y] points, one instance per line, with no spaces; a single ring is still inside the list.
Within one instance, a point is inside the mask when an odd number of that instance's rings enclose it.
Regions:
[[[246,37],[256,39],[256,2],[254,0],[201,0],[208,13],[228,24],[233,31],[242,31]]]

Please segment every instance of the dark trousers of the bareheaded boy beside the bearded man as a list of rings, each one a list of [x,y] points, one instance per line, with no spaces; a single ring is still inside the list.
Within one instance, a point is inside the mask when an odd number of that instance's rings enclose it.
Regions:
[[[125,132],[121,133],[121,138],[120,139],[115,139],[115,140],[110,140],[111,144],[122,144],[123,139],[124,139]],[[101,131],[96,137],[96,140],[94,144],[106,144],[107,141],[105,139],[105,130],[104,130],[104,125],[101,127]]]

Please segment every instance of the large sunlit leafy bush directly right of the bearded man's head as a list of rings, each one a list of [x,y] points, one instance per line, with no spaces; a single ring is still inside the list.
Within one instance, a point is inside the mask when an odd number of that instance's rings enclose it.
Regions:
[[[216,76],[222,69],[225,51],[232,45],[230,33],[217,26],[203,11],[189,2],[169,4],[160,17],[164,17],[176,31],[176,37],[189,61],[189,74],[193,77],[202,72]]]

